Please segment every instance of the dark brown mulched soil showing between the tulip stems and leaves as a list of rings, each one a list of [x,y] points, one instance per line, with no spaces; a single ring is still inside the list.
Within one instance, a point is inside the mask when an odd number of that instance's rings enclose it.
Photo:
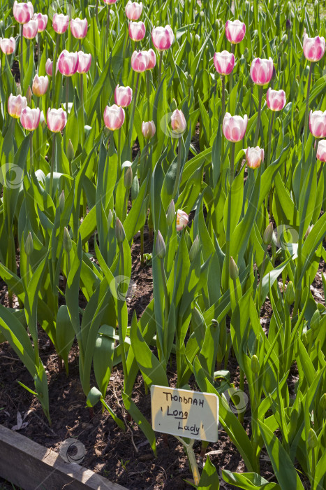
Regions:
[[[145,252],[150,253],[151,249],[152,244],[148,241],[145,230]],[[132,257],[132,279],[135,287],[127,300],[130,319],[134,309],[140,318],[142,311],[153,295],[151,267],[140,267],[140,237],[135,239]],[[313,288],[318,295],[324,297],[320,275],[325,268],[324,262],[320,266]],[[82,301],[84,298],[81,297],[80,300],[81,306],[84,307],[84,301]],[[317,300],[320,301],[320,297]],[[0,282],[0,302],[8,306],[6,284],[3,281]],[[267,301],[264,309],[262,309],[262,323],[268,322],[271,315],[272,308]],[[27,422],[27,426],[21,428],[20,433],[57,452],[59,452],[61,443],[68,437],[77,438],[86,449],[82,465],[98,472],[112,482],[126,486],[127,489],[175,490],[176,488],[191,488],[186,483],[186,479],[192,479],[191,470],[179,441],[173,436],[163,437],[157,433],[157,458],[155,458],[145,435],[136,423],[128,420],[128,414],[121,399],[123,374],[120,369],[114,368],[112,371],[105,400],[114,412],[126,422],[128,426],[126,432],[122,432],[117,427],[107,412],[102,414],[100,404],[94,407],[94,414],[91,414],[89,409],[85,407],[85,397],[79,379],[76,343],[73,344],[69,356],[68,378],[64,372],[58,372],[57,355],[42,328],[39,328],[39,347],[40,357],[48,376],[52,426],[48,425],[38,400],[17,384],[17,379],[19,379],[27,386],[34,388],[29,373],[8,342],[0,344],[0,407],[4,408],[0,411],[0,423],[3,426],[13,428],[17,424],[17,413],[20,412],[23,417],[26,415],[24,422]],[[239,386],[239,366],[237,360],[232,356],[228,362],[228,370],[230,370],[232,382],[236,387]],[[175,386],[177,375],[173,363],[168,368],[167,374],[170,386]],[[288,380],[290,389],[293,389],[296,379],[297,370],[294,366]],[[94,379],[91,379],[91,383],[96,385]],[[198,389],[193,378],[189,384],[191,388]],[[244,389],[249,394],[246,385]],[[292,391],[292,393],[294,392]],[[145,386],[140,375],[135,382],[133,401],[150,421],[150,395],[145,393]],[[250,416],[250,406],[248,406],[244,415],[244,427],[249,434]],[[218,437],[218,442],[209,443],[207,447],[207,454],[209,454],[216,468],[225,468],[236,472],[246,471],[242,458],[221,426]],[[201,443],[195,442],[194,448],[198,456],[199,468],[202,468],[205,458],[204,461],[200,458]],[[276,481],[265,450],[261,454],[260,470],[263,477],[271,482]],[[221,488],[223,487],[226,489],[236,488],[225,484],[221,479]],[[0,479],[0,489],[12,488],[11,485]]]

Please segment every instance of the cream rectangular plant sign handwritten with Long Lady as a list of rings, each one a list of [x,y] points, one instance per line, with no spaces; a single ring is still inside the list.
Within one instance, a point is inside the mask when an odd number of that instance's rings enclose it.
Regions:
[[[214,393],[153,384],[151,424],[157,432],[216,442],[218,398]]]

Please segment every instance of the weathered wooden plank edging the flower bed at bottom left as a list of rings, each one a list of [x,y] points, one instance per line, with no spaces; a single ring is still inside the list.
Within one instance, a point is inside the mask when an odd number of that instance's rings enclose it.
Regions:
[[[1,424],[0,476],[23,490],[127,490]]]

